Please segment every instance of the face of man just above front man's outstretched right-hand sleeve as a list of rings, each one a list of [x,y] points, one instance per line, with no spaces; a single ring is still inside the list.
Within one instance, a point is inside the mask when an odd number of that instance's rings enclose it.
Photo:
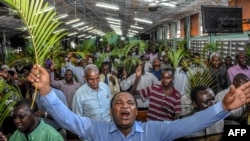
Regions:
[[[193,104],[194,107],[198,109],[198,111],[212,106],[215,102],[214,93],[211,89],[198,91],[197,95],[197,100]]]

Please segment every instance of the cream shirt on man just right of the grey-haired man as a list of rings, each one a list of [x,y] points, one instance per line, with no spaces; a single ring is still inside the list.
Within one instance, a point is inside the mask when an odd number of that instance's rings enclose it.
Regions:
[[[115,85],[113,85],[113,83],[111,81],[109,81],[110,76],[112,76],[115,79]],[[119,84],[117,77],[109,73],[109,74],[107,74],[107,78],[108,78],[108,84],[109,84],[109,88],[111,90],[112,96],[115,95],[116,93],[120,92],[120,84]],[[104,82],[104,80],[105,80],[105,75],[100,74],[100,81]]]

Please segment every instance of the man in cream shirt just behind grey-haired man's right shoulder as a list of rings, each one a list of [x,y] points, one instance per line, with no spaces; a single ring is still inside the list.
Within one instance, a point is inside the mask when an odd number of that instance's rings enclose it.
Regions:
[[[110,90],[112,96],[120,92],[120,84],[118,78],[111,73],[111,62],[103,62],[101,66],[100,81],[106,83]]]

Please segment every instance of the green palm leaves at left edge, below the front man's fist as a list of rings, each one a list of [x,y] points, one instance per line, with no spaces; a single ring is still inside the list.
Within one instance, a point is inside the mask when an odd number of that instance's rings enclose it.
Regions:
[[[10,116],[16,102],[22,98],[17,87],[7,84],[4,79],[0,79],[0,125],[7,116]]]

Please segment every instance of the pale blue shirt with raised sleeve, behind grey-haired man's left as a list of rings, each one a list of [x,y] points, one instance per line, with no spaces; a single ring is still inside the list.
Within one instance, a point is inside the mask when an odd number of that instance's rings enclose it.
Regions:
[[[82,66],[74,66],[71,62],[66,63],[66,68],[73,71],[74,75],[77,78],[77,82],[81,85],[85,84],[85,80],[83,79],[85,76],[84,68]]]

